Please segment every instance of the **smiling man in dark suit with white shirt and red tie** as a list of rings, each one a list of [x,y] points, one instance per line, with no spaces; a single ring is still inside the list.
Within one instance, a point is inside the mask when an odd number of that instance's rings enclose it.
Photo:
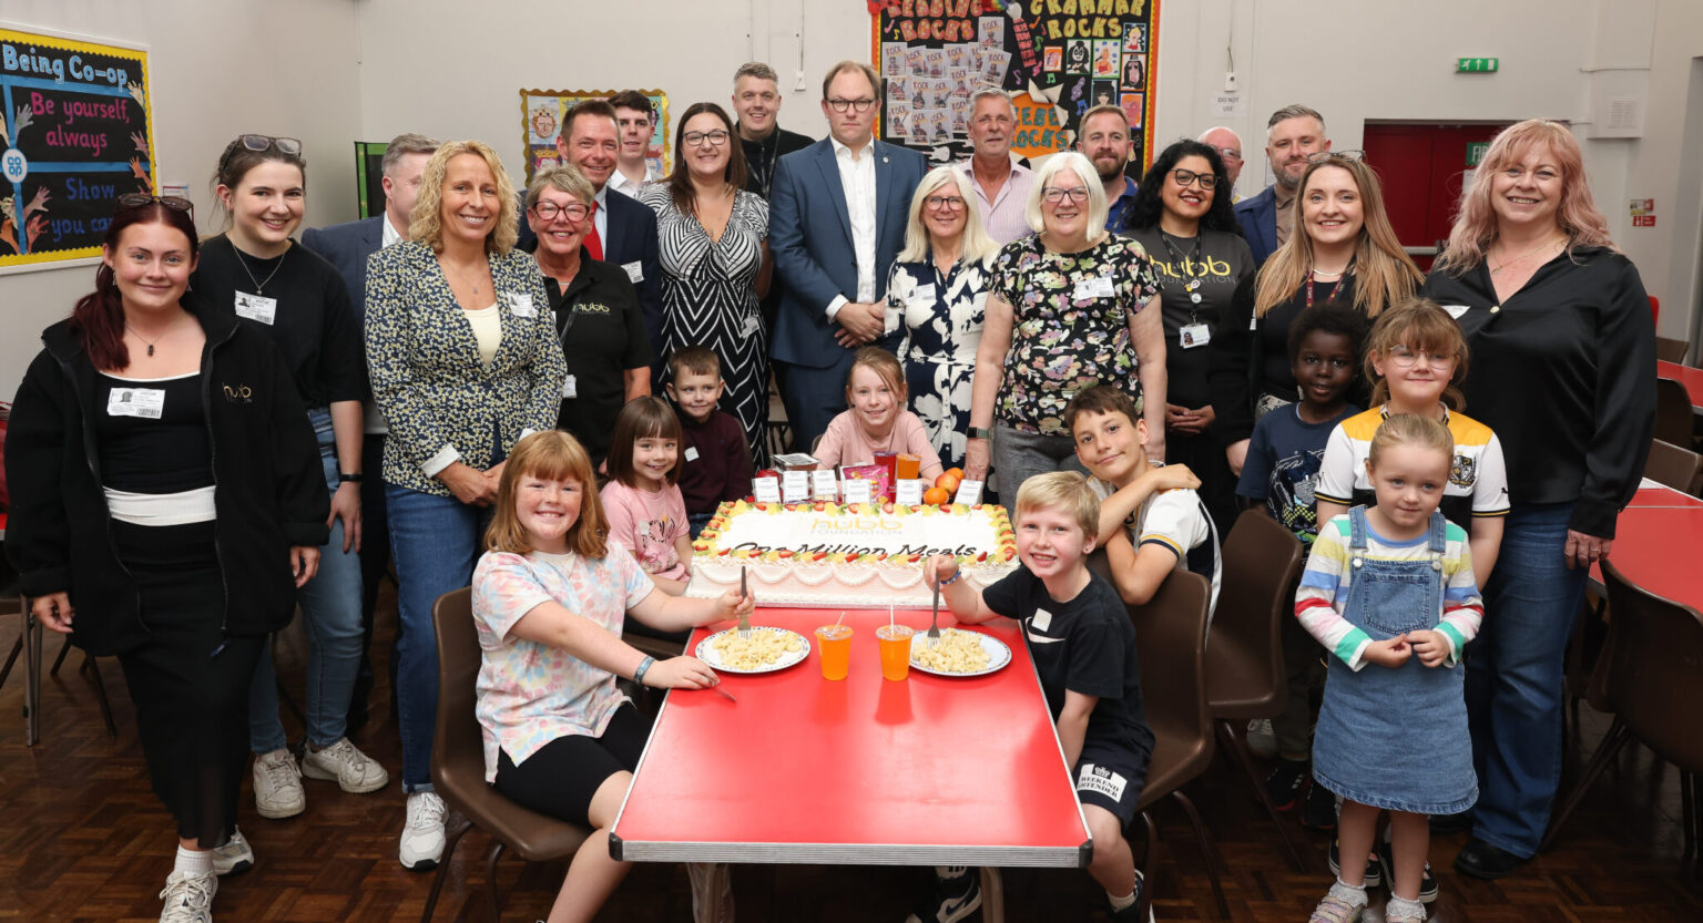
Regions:
[[[562,162],[579,167],[598,191],[598,208],[591,216],[593,233],[586,235],[591,259],[620,266],[639,290],[644,327],[651,334],[651,387],[661,392],[662,375],[662,267],[657,264],[656,213],[622,194],[610,194],[610,179],[620,160],[620,124],[615,107],[591,99],[562,116],[562,133],[555,140]],[[521,221],[525,226],[526,221]],[[572,371],[572,370],[569,370]],[[652,392],[652,393],[656,393]]]

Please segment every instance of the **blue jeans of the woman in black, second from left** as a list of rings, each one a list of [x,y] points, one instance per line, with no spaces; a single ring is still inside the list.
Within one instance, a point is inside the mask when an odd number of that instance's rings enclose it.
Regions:
[[[308,410],[318,438],[325,485],[337,490],[337,444],[330,410]],[[347,732],[349,697],[361,666],[361,555],[342,552],[342,519],[334,519],[330,542],[320,547],[318,572],[296,591],[308,628],[307,722],[308,742],[335,744]],[[272,753],[290,744],[278,720],[278,674],[271,644],[261,649],[249,686],[249,749]]]

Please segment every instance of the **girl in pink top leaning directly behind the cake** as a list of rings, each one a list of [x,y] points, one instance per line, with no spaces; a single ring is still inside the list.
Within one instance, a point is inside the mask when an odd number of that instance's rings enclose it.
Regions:
[[[904,409],[908,398],[897,356],[879,346],[858,349],[846,375],[850,410],[828,424],[811,455],[829,468],[874,462],[877,451],[916,455],[923,460],[918,475],[933,482],[945,467],[921,417]]]

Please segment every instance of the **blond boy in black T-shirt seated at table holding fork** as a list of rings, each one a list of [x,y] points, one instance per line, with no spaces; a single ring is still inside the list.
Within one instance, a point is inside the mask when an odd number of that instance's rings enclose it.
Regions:
[[[1015,521],[1022,565],[1000,582],[972,589],[950,557],[930,559],[925,576],[940,581],[959,622],[1022,622],[1093,836],[1088,874],[1105,889],[1112,920],[1136,920],[1143,882],[1124,829],[1146,782],[1153,732],[1141,708],[1134,625],[1117,591],[1087,567],[1100,501],[1075,472],[1035,475],[1017,490]],[[976,879],[974,870],[962,875]],[[942,879],[938,891],[950,894],[954,879]]]

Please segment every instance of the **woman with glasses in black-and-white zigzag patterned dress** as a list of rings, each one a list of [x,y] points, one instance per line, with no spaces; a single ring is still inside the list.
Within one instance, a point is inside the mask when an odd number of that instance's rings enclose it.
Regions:
[[[720,409],[744,424],[751,460],[768,465],[768,203],[744,191],[734,123],[714,102],[674,129],[674,172],[639,201],[656,211],[662,262],[662,351],[708,346],[722,363]]]

